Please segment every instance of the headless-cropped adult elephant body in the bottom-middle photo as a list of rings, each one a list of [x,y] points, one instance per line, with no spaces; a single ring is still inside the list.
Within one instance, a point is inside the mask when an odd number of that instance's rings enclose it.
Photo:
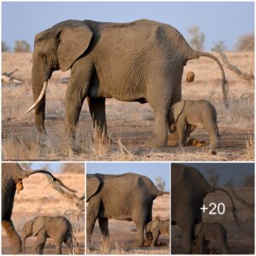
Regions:
[[[143,175],[125,173],[121,175],[87,174],[86,233],[90,245],[93,229],[98,218],[102,236],[107,239],[108,218],[133,221],[137,226],[137,246],[143,246],[143,231],[152,220],[152,205],[160,191]]]

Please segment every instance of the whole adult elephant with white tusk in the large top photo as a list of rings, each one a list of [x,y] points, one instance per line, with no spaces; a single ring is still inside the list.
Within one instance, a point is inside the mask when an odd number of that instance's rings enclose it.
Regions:
[[[167,118],[181,100],[186,62],[207,56],[218,63],[227,106],[224,69],[218,58],[189,47],[172,26],[152,20],[107,23],[65,20],[35,37],[32,56],[32,91],[35,123],[44,128],[45,92],[55,70],[71,68],[66,91],[66,129],[73,149],[75,130],[84,99],[89,102],[96,131],[106,132],[105,99],[148,102],[154,110],[154,132],[146,145],[166,146]]]

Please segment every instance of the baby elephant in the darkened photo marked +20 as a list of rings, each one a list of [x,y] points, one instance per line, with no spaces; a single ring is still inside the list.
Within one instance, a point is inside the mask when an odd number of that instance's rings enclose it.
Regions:
[[[218,222],[196,224],[192,253],[206,254],[211,242],[216,242],[222,254],[229,254],[227,230],[223,224]]]

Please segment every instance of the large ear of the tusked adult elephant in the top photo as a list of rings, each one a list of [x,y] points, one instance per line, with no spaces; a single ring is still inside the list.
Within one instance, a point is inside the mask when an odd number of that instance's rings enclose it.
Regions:
[[[93,32],[89,26],[64,26],[59,34],[57,57],[61,71],[69,69],[90,45]]]

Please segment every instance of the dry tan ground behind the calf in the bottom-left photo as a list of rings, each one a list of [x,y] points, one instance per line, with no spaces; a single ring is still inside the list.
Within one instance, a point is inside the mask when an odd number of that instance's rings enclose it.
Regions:
[[[69,188],[78,191],[76,195],[79,197],[84,195],[84,174],[65,173],[55,176],[59,177]],[[71,222],[73,235],[79,243],[79,246],[75,245],[74,253],[84,254],[84,213],[79,213],[73,201],[67,200],[55,189],[50,188],[48,179],[44,175],[38,174],[23,179],[23,186],[24,189],[20,191],[20,194],[15,195],[15,207],[12,215],[18,233],[20,234],[23,225],[28,220],[39,215],[63,215]],[[35,240],[35,237],[26,239],[26,254],[32,254],[32,245]],[[2,230],[2,253],[10,254],[9,239],[4,230]],[[69,254],[64,243],[62,244],[62,253]],[[55,254],[55,242],[52,239],[47,239],[44,254]]]

